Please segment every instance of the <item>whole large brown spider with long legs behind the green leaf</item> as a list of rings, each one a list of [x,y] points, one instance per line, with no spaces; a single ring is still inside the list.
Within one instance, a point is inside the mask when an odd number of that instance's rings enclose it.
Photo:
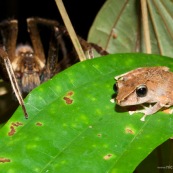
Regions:
[[[45,26],[51,31],[47,56],[45,56],[38,25]],[[10,60],[8,63],[10,64],[11,62],[12,71],[14,71],[14,76],[17,79],[17,84],[15,85],[18,85],[20,88],[19,93],[30,92],[33,88],[50,79],[59,71],[79,61],[78,57],[72,56],[75,53],[68,54],[64,37],[68,39],[69,35],[66,28],[59,25],[57,21],[43,18],[28,18],[27,27],[32,46],[29,44],[17,45],[17,20],[7,20],[0,23],[3,44],[0,48],[1,75],[4,80],[10,78],[4,64],[4,58],[6,59],[6,57],[8,57]],[[45,36],[46,34],[44,37]],[[89,51],[90,55],[92,54],[92,47],[98,52],[101,51],[102,55],[107,54],[107,52],[102,50],[99,46],[89,44],[81,37],[78,37],[78,39],[84,51]],[[11,83],[13,86],[13,83],[15,83],[14,78],[12,78]],[[18,98],[18,100],[20,103],[20,98]],[[20,104],[22,105],[23,103]]]

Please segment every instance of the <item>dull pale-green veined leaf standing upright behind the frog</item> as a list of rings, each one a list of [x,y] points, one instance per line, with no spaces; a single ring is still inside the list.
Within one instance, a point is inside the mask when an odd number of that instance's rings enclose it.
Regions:
[[[109,53],[145,53],[140,2],[107,0],[90,28],[88,41]],[[172,2],[148,0],[147,5],[151,52],[173,57]]]

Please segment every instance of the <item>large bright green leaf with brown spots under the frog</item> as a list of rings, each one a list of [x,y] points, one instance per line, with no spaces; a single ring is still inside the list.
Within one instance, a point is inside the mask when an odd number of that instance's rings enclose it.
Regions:
[[[152,61],[150,61],[152,59]],[[172,115],[140,121],[115,108],[114,76],[167,57],[116,54],[77,63],[34,89],[0,130],[0,172],[133,172],[173,135]]]

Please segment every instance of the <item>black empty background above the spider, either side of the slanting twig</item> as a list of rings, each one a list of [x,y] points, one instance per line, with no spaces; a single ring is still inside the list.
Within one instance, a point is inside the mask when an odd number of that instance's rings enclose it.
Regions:
[[[63,24],[54,0],[0,0],[0,21],[18,19],[19,38],[25,39],[26,18],[43,17]],[[89,28],[106,0],[63,0],[78,35],[87,39]]]

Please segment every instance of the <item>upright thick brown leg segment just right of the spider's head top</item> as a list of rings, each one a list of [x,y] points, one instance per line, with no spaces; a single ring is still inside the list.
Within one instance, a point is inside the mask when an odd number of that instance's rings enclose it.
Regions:
[[[40,39],[40,34],[37,28],[37,21],[34,18],[27,19],[28,32],[30,33],[34,54],[39,60],[45,64],[45,54],[43,45]]]

